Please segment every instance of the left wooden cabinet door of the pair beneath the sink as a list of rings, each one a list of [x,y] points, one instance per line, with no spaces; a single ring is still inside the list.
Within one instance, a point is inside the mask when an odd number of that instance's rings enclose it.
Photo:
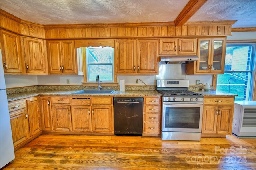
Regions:
[[[92,131],[90,106],[72,106],[72,130],[80,132]]]

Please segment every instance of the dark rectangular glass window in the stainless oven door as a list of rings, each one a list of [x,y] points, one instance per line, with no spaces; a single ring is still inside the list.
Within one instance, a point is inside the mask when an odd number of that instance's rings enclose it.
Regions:
[[[199,107],[166,107],[165,128],[199,128]]]

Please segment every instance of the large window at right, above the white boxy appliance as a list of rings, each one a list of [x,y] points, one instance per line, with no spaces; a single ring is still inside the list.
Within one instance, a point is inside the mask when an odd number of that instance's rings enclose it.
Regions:
[[[217,90],[237,94],[235,101],[251,101],[256,44],[227,44],[225,70],[217,76]]]

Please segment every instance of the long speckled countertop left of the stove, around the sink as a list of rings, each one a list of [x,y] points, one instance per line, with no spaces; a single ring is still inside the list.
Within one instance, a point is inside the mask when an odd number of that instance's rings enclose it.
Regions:
[[[68,91],[61,91],[61,90],[34,90],[34,91],[27,91],[22,93],[13,93],[8,94],[7,99],[8,101],[14,101],[19,99],[25,99],[28,97],[34,97],[38,95],[49,95],[49,96],[161,96],[155,90],[129,90],[125,92],[120,92],[119,90],[114,91],[112,94],[73,94],[77,90],[68,90]]]

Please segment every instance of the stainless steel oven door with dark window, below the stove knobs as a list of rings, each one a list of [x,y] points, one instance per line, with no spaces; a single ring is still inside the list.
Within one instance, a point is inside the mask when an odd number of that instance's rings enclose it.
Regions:
[[[163,132],[201,132],[203,103],[162,103]]]

